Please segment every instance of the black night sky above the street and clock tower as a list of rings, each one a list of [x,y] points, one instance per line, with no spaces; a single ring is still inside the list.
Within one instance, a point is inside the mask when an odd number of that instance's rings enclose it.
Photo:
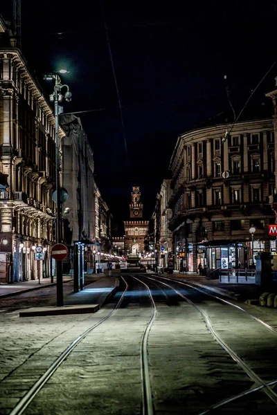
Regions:
[[[4,18],[10,10],[1,4]],[[28,0],[21,12],[22,51],[46,97],[43,74],[63,67],[73,93],[64,112],[96,110],[78,116],[119,224],[132,183],[150,219],[178,134],[230,110],[226,86],[238,116],[277,59],[277,1]],[[276,75],[277,64],[249,106],[267,102]]]

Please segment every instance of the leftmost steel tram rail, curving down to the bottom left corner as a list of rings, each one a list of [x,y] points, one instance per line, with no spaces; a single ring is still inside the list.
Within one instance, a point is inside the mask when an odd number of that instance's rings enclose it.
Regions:
[[[26,409],[26,407],[28,407],[28,405],[30,405],[30,403],[32,402],[33,398],[35,398],[35,396],[38,394],[38,392],[40,391],[40,389],[42,389],[42,387],[45,385],[45,383],[47,382],[47,380],[49,378],[51,378],[51,376],[53,376],[53,374],[55,373],[55,371],[57,370],[57,368],[62,365],[62,362],[64,361],[64,359],[66,359],[67,356],[69,356],[69,353],[71,353],[71,351],[73,351],[73,349],[75,349],[75,347],[93,330],[96,329],[97,326],[99,326],[100,324],[102,324],[102,322],[105,322],[105,320],[107,320],[109,317],[111,317],[111,315],[113,315],[116,310],[120,307],[120,304],[123,302],[123,297],[125,296],[125,293],[127,291],[128,288],[128,284],[125,281],[125,279],[123,277],[121,277],[123,279],[123,281],[125,282],[126,288],[125,291],[123,291],[123,294],[121,295],[120,299],[118,300],[118,303],[116,304],[116,306],[114,307],[113,310],[111,310],[111,312],[104,318],[102,318],[102,320],[100,320],[98,323],[93,324],[93,326],[89,327],[89,329],[87,329],[86,331],[84,331],[84,333],[82,333],[81,335],[78,336],[78,338],[76,338],[70,345],[69,347],[67,347],[64,352],[55,360],[55,362],[53,362],[53,364],[51,365],[51,367],[49,367],[46,372],[37,380],[37,382],[35,382],[35,384],[33,385],[33,387],[31,387],[29,389],[29,391],[27,392],[27,394],[21,399],[19,400],[19,403],[17,403],[17,405],[14,407],[14,409],[12,409],[12,412],[10,412],[10,415],[20,415],[24,412],[24,410]]]

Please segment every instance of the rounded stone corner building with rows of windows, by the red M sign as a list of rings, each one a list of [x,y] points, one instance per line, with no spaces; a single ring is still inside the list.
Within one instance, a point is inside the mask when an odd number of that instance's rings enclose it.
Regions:
[[[276,140],[271,117],[214,121],[177,139],[170,160],[175,268],[197,271],[253,264],[275,252],[269,196],[276,194]],[[255,228],[252,235],[250,228]]]

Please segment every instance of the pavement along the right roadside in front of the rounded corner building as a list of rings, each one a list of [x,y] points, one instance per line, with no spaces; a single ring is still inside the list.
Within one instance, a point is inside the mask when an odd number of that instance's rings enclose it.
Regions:
[[[259,299],[263,292],[260,286],[253,284],[220,284],[219,279],[207,279],[194,273],[162,274],[164,277],[186,280],[196,286],[207,288],[214,293],[225,295],[231,299],[245,302],[247,299]]]

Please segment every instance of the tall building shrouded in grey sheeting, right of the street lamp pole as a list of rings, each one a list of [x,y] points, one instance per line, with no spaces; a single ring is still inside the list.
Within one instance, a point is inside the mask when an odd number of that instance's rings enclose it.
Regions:
[[[60,124],[66,132],[62,140],[62,186],[69,198],[63,203],[63,234],[71,252],[69,269],[73,269],[75,249],[80,261],[84,257],[84,270],[95,270],[100,253],[111,250],[111,214],[94,181],[93,151],[80,118],[61,114]]]

